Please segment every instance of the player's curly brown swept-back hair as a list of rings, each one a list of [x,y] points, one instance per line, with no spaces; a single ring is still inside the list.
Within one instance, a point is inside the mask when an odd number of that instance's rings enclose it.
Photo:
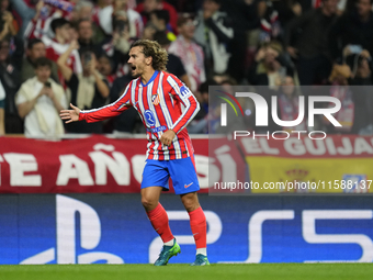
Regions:
[[[150,40],[138,40],[131,46],[131,48],[137,46],[143,47],[142,53],[145,57],[151,56],[151,66],[155,70],[166,71],[168,54],[167,51],[162,48],[158,42]]]

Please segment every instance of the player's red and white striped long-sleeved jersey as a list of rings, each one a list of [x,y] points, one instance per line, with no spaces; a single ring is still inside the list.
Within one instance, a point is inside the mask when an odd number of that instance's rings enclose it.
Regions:
[[[155,71],[147,85],[134,79],[115,102],[88,111],[81,111],[79,121],[98,122],[121,114],[134,107],[147,130],[147,157],[155,160],[187,158],[193,155],[185,126],[200,110],[193,93],[172,74]],[[165,131],[177,133],[170,147],[160,143]]]

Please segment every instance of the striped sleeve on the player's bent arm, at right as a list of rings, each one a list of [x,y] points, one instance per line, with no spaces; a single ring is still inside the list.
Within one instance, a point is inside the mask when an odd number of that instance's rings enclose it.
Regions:
[[[167,78],[167,82],[172,88],[171,93],[173,98],[179,100],[185,108],[179,119],[173,123],[171,127],[169,127],[178,134],[183,128],[185,128],[185,126],[200,111],[200,103],[196,101],[192,91],[190,91],[190,89],[174,76],[170,75]]]

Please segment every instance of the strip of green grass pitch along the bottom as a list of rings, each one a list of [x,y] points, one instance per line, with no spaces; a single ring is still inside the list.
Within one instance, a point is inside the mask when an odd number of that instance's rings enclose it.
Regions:
[[[373,264],[0,266],[3,280],[372,280]]]

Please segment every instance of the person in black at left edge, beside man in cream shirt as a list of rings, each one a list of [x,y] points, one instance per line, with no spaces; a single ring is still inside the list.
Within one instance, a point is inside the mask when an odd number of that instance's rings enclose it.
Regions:
[[[14,97],[21,86],[20,67],[14,63],[14,55],[10,55],[10,41],[0,41],[0,80],[5,90],[5,131],[7,133],[22,133],[23,123],[16,111]],[[21,55],[18,55],[22,58]]]

